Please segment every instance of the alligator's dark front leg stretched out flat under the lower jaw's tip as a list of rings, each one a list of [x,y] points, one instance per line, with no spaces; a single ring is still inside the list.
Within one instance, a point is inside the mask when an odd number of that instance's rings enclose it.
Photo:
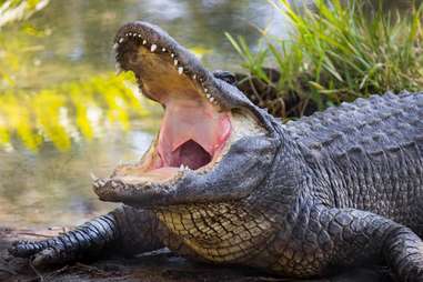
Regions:
[[[151,212],[124,205],[52,239],[17,241],[9,252],[33,256],[36,265],[63,264],[111,252],[137,254],[162,248],[158,224]]]

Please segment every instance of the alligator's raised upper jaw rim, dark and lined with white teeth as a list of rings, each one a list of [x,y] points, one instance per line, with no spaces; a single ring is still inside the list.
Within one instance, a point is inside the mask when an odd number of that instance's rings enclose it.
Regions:
[[[250,111],[271,134],[278,134],[270,114],[255,107],[236,87],[214,78],[209,70],[202,67],[195,56],[154,24],[134,21],[119,29],[113,44],[117,52],[118,71],[137,72],[125,56],[134,54],[139,47],[145,47],[152,53],[169,56],[175,70],[200,85],[202,94],[211,103],[219,105],[220,110],[244,109]],[[143,88],[142,79],[138,79],[140,87]],[[143,91],[143,93],[148,94],[148,91]]]

